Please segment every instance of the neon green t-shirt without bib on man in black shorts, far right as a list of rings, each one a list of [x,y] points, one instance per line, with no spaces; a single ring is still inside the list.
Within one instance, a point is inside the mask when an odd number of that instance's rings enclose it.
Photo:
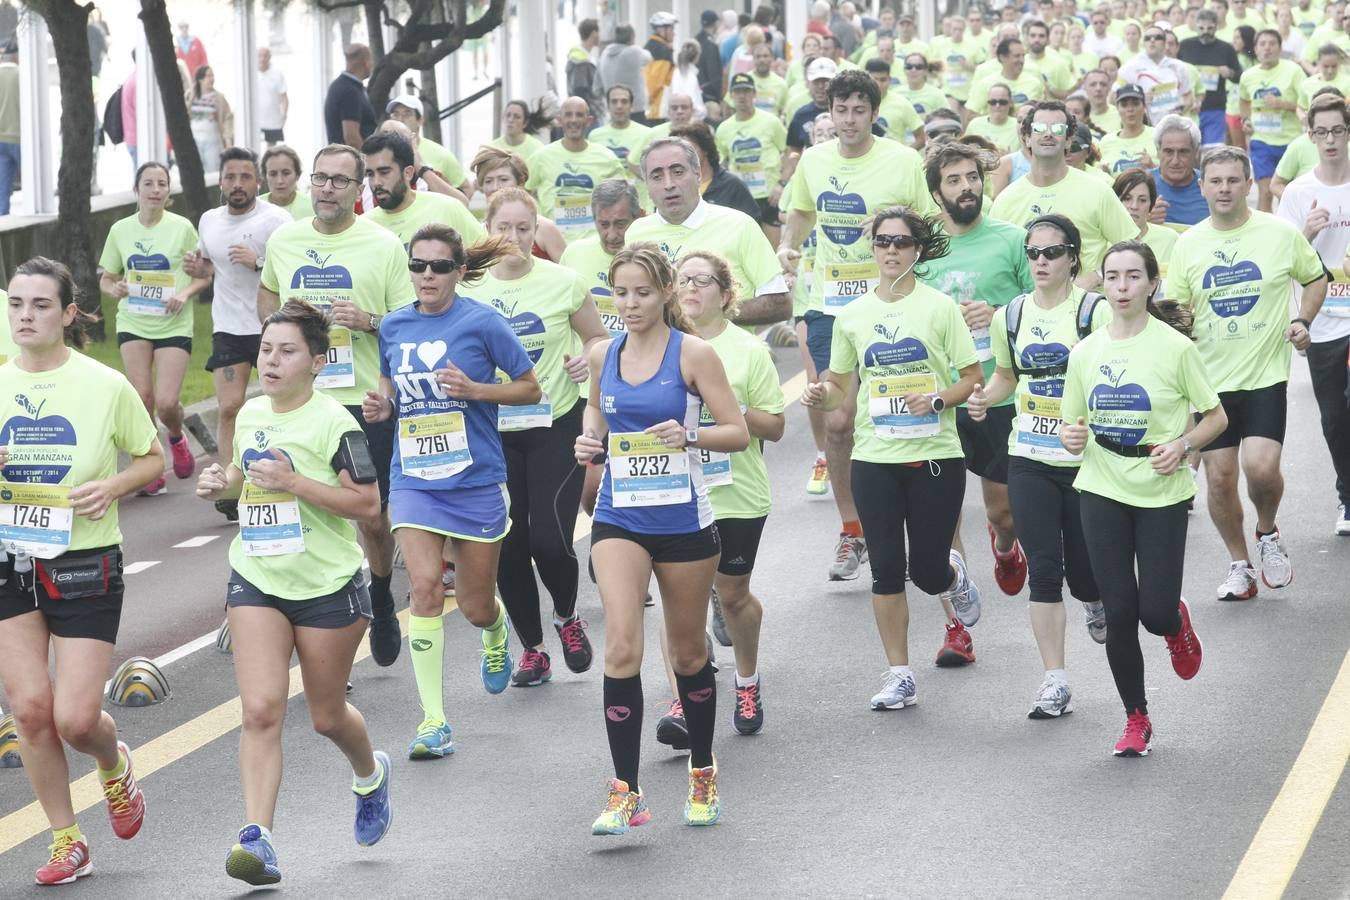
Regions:
[[[1195,310],[1195,341],[1218,391],[1289,379],[1289,287],[1322,277],[1322,258],[1295,225],[1251,210],[1239,228],[1191,225],[1172,250],[1166,296]],[[1260,262],[1258,262],[1260,260]]]

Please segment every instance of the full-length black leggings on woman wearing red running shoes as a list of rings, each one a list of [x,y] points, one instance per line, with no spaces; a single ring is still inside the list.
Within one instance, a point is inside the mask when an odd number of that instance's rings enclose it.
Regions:
[[[1125,711],[1148,714],[1139,625],[1157,636],[1181,630],[1187,503],[1126,506],[1084,491],[1080,509],[1092,575],[1106,606],[1106,658],[1111,677]]]

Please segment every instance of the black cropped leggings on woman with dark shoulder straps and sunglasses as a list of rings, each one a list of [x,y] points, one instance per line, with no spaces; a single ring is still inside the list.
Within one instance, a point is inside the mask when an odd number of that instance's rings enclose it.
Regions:
[[[1026,551],[1033,603],[1062,603],[1065,576],[1069,594],[1077,599],[1092,603],[1099,596],[1083,538],[1079,493],[1073,490],[1077,474],[1076,466],[1008,457],[1008,503],[1017,538]]]

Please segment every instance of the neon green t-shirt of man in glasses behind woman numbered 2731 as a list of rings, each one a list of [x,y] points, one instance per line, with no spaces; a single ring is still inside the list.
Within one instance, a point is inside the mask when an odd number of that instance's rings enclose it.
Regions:
[[[375,316],[413,301],[402,242],[366,216],[336,235],[320,233],[309,219],[271,232],[262,286],[282,304],[304,300],[327,309],[335,300],[350,300]],[[333,327],[329,339],[329,363],[315,383],[339,403],[360,406],[366,391],[379,386],[379,335]]]

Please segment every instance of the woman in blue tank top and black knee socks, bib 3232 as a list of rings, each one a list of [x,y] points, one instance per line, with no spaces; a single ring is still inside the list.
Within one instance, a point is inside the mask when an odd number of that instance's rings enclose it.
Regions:
[[[645,243],[625,247],[609,278],[628,332],[591,348],[591,393],[575,447],[578,466],[608,456],[591,556],[605,607],[603,704],[614,780],[591,833],[624,834],[651,820],[637,769],[643,595],[653,572],[690,733],[684,823],[714,824],[721,816],[717,684],[703,634],[721,541],[699,452],[742,451],[749,433],[716,351],[693,336],[666,254]],[[699,428],[701,403],[716,425]]]

